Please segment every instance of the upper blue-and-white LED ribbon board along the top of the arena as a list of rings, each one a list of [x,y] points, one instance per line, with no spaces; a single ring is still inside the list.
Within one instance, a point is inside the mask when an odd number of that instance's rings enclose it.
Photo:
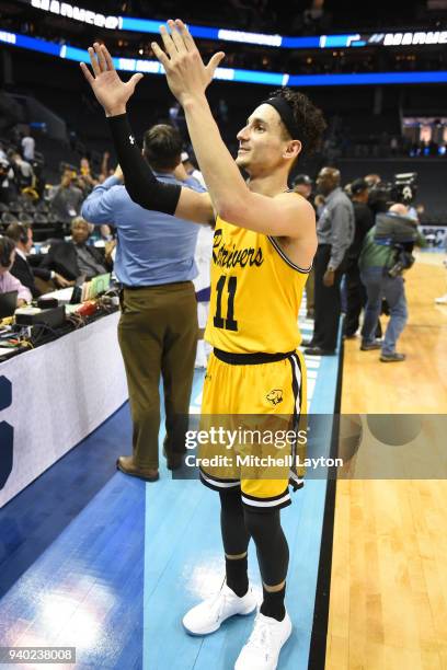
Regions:
[[[21,0],[34,9],[38,9],[58,16],[65,16],[101,28],[129,31],[137,33],[158,34],[160,21],[138,19],[133,16],[114,16],[92,12],[83,8],[59,2],[58,0]],[[245,31],[205,27],[188,25],[193,37],[218,42],[238,42],[240,44],[260,45],[266,47],[283,47],[287,49],[334,49],[354,47],[403,47],[447,44],[447,31],[416,31],[397,33],[345,35],[318,35],[314,37],[287,37],[283,35],[268,35],[264,33],[250,33]]]

